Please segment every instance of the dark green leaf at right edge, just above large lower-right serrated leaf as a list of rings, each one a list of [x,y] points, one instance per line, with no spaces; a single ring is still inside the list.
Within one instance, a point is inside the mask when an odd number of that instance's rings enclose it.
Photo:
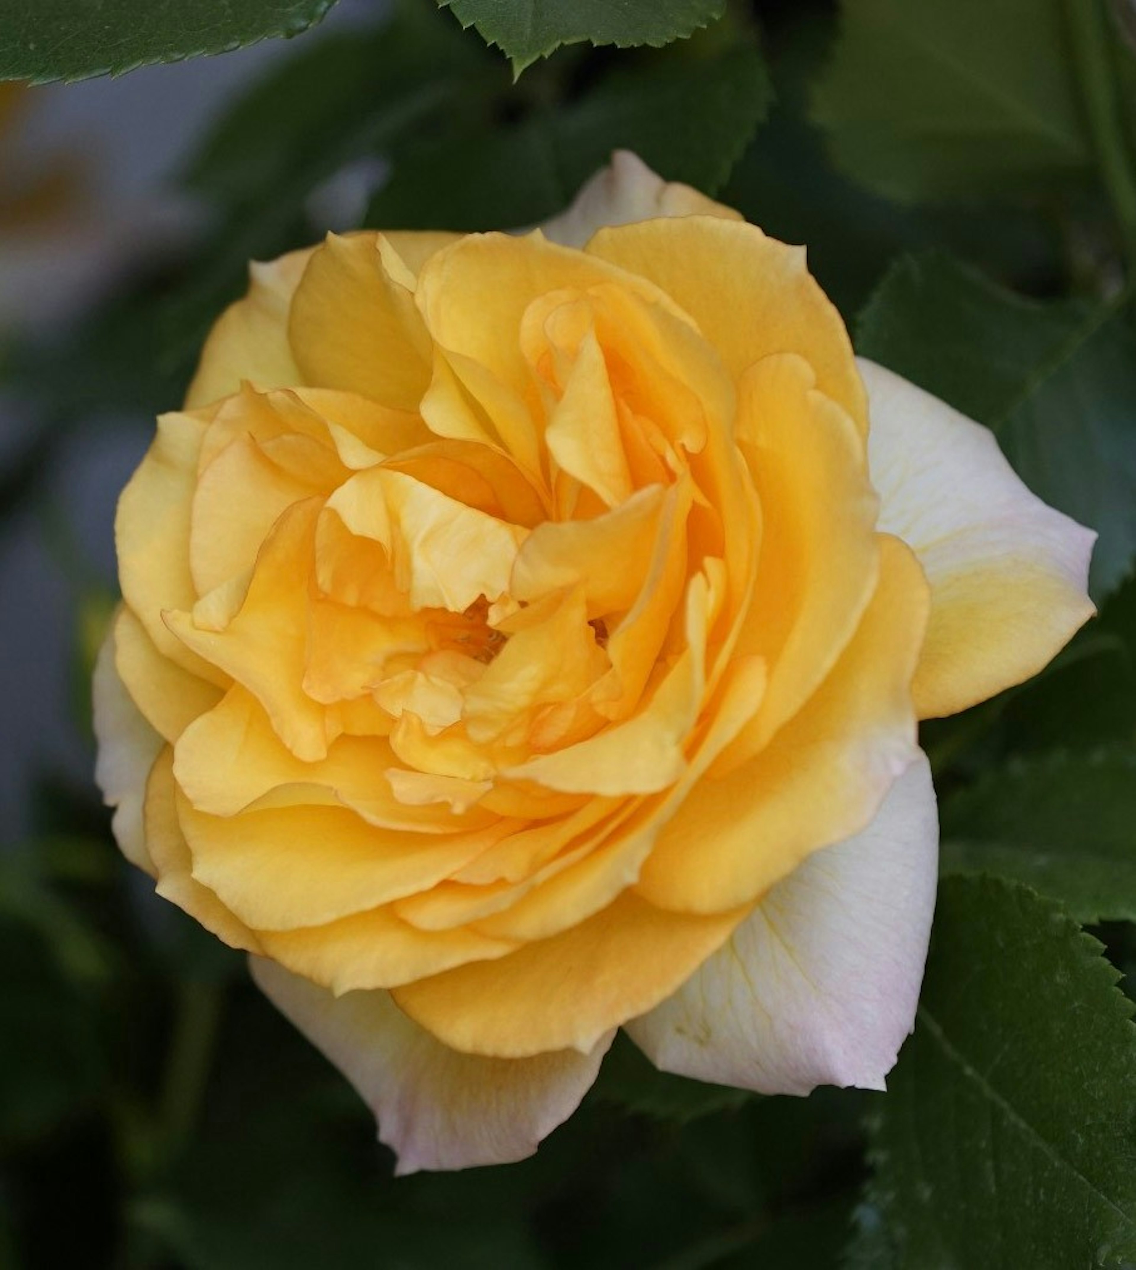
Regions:
[[[1080,922],[1136,921],[1136,751],[1015,762],[942,820],[943,872],[1017,879]]]

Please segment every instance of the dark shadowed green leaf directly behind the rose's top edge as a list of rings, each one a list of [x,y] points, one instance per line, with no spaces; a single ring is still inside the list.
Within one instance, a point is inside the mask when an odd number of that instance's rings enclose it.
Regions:
[[[459,130],[394,156],[369,225],[490,230],[560,211],[607,163],[634,150],[668,180],[718,189],[770,103],[748,42],[609,76],[593,91],[512,127]],[[438,197],[438,173],[446,193]]]

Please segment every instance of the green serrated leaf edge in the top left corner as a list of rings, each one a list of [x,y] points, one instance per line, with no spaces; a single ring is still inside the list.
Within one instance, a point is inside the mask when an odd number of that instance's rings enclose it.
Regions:
[[[0,79],[88,79],[297,36],[335,0],[0,0]]]

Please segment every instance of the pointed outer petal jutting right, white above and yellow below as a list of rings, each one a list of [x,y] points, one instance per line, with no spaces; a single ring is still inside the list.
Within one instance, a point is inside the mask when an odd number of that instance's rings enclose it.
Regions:
[[[1095,533],[1031,494],[986,428],[874,362],[859,366],[879,527],[907,542],[931,587],[916,709],[954,714],[1036,674],[1093,616]]]

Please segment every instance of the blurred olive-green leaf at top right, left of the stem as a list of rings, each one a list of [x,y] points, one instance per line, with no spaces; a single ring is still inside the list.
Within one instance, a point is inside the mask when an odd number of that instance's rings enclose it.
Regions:
[[[1090,0],[1083,0],[1090,3]],[[1083,178],[1061,0],[844,0],[813,98],[836,163],[901,201]]]

